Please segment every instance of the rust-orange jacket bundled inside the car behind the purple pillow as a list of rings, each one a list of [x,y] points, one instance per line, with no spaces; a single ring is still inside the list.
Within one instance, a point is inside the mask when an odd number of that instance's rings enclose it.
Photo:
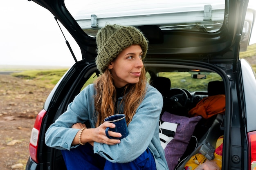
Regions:
[[[225,95],[214,95],[205,97],[198,104],[189,110],[189,116],[200,115],[204,119],[207,119],[218,113],[225,112]]]

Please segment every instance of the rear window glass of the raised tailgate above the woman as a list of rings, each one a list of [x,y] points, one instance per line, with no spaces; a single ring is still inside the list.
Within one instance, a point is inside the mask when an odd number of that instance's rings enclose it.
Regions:
[[[220,30],[225,15],[225,0],[65,0],[65,6],[93,37],[107,23],[213,33]]]

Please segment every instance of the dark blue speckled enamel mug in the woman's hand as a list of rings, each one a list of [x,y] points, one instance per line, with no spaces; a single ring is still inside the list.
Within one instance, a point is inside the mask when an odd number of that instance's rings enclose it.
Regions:
[[[127,137],[128,135],[128,129],[127,129],[127,124],[126,124],[126,119],[124,114],[116,114],[109,116],[104,119],[105,122],[110,122],[116,125],[115,128],[106,128],[106,135],[110,139],[123,139],[124,137]],[[121,133],[121,137],[111,137],[108,135],[108,130],[113,131],[113,132],[118,132]]]

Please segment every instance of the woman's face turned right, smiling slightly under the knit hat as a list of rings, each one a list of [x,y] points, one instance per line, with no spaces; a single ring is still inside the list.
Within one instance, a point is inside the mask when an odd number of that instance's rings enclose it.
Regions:
[[[143,67],[142,54],[140,45],[131,45],[110,63],[108,68],[111,69],[117,88],[124,87],[129,83],[135,84],[139,82]]]

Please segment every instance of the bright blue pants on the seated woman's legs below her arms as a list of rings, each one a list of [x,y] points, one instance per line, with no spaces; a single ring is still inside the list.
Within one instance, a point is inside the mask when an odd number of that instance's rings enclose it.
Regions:
[[[156,170],[155,159],[147,148],[137,159],[128,163],[112,163],[93,153],[90,144],[71,150],[61,150],[67,170]]]

